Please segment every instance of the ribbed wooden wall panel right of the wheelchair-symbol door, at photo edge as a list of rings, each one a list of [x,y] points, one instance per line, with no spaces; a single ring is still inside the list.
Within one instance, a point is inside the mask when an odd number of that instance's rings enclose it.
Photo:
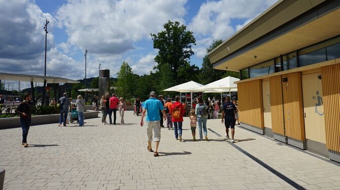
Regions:
[[[340,152],[340,65],[321,68],[327,148]]]

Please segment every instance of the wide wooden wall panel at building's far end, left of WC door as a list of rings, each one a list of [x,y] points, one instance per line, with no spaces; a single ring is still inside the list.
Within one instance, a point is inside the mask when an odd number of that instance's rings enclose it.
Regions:
[[[237,84],[240,122],[264,128],[262,81],[254,80]]]

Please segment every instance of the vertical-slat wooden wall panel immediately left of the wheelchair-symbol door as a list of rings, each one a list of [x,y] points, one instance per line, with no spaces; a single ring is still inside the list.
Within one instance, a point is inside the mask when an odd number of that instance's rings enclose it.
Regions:
[[[286,136],[304,141],[301,73],[289,73],[282,78],[288,79],[282,82]]]

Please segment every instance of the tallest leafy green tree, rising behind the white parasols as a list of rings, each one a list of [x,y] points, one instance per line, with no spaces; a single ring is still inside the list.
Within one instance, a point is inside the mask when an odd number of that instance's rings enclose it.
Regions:
[[[186,26],[178,21],[168,21],[163,25],[163,31],[157,35],[150,34],[153,40],[153,48],[158,49],[158,55],[155,57],[157,66],[154,68],[161,71],[166,64],[171,70],[168,73],[172,79],[178,79],[176,82],[181,83],[184,79],[178,78],[178,71],[181,67],[188,67],[188,59],[194,54],[191,47],[196,45],[192,31],[186,30]],[[190,65],[190,64],[189,64]],[[161,78],[165,80],[165,78]],[[164,81],[165,82],[165,81]]]

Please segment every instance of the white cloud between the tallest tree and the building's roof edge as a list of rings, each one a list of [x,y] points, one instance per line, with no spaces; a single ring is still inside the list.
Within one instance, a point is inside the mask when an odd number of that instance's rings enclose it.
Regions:
[[[203,3],[188,26],[197,40],[196,56],[205,56],[205,48],[214,40],[226,40],[276,1],[221,0]],[[246,21],[233,26],[233,19]]]

